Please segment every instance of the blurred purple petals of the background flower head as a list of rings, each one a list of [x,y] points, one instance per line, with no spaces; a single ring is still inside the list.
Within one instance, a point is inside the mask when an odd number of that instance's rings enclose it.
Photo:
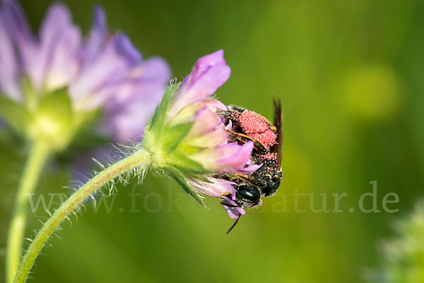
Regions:
[[[50,6],[40,32],[33,35],[18,3],[1,3],[1,94],[35,116],[45,97],[64,89],[73,114],[67,128],[76,132],[100,111],[95,128],[110,140],[127,143],[143,135],[170,79],[163,59],[143,60],[128,37],[110,34],[100,7],[83,38],[63,4]],[[28,127],[36,128],[34,124]]]

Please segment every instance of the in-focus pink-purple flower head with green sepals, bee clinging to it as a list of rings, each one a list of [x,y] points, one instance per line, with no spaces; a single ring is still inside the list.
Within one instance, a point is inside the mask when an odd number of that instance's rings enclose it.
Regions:
[[[181,84],[168,88],[143,140],[157,167],[202,204],[199,194],[235,205],[237,184],[224,177],[249,174],[260,167],[250,166],[252,141],[228,141],[231,125],[225,125],[220,116],[227,107],[211,97],[229,77],[222,50],[201,57]],[[242,207],[224,207],[232,218],[245,215]]]

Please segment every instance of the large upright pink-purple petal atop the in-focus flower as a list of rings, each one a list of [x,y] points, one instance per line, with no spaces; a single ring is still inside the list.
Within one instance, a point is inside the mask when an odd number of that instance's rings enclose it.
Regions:
[[[175,116],[182,108],[204,100],[230,78],[230,67],[225,63],[223,50],[201,57],[184,79],[175,101],[168,112],[169,117]]]

